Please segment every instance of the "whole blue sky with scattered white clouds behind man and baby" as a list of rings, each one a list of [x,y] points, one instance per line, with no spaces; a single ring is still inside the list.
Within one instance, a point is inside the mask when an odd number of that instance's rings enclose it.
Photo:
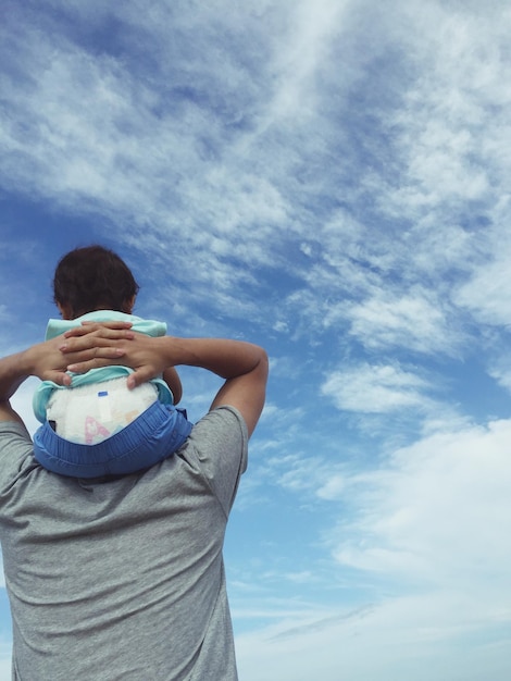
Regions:
[[[240,679],[507,681],[509,3],[3,0],[0,33],[0,354],[99,242],[139,314],[271,357]],[[182,377],[196,420],[219,382]]]

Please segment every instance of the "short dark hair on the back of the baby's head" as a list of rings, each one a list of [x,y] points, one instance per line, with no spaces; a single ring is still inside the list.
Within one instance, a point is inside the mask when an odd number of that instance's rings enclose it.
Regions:
[[[127,305],[139,286],[127,264],[102,246],[75,248],[57,265],[53,299],[67,305],[72,318],[98,309],[129,312]]]

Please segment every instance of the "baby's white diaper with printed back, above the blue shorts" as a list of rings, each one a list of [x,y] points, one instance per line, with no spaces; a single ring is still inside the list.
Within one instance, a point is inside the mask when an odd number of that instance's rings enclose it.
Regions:
[[[96,445],[126,428],[158,399],[152,383],[132,391],[126,376],[55,389],[47,407],[48,421],[54,422],[58,435],[82,445]]]

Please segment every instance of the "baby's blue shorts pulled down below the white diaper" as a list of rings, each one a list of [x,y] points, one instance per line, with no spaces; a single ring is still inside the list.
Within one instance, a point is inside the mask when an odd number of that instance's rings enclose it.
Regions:
[[[60,475],[125,475],[172,456],[191,429],[182,410],[157,400],[122,431],[96,445],[63,439],[46,422],[34,435],[34,456]]]

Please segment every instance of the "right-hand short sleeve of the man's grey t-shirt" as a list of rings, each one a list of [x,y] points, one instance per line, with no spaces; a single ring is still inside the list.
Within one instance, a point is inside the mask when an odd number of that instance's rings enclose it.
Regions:
[[[237,409],[222,406],[194,426],[184,458],[197,465],[228,516],[247,469],[248,432]]]

